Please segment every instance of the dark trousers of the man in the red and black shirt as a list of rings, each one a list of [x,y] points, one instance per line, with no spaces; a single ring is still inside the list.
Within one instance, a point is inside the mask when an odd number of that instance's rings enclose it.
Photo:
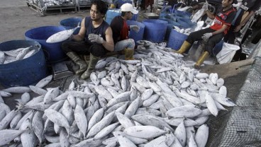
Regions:
[[[211,28],[205,28],[203,30],[198,30],[196,32],[190,33],[190,35],[187,38],[187,42],[189,42],[192,45],[195,41],[202,40],[201,37],[205,33],[213,33],[215,31],[216,30],[212,30]],[[206,42],[205,50],[209,52],[209,54],[212,54],[213,48],[216,46],[218,42],[222,40],[223,36],[223,33],[211,36],[209,40]]]

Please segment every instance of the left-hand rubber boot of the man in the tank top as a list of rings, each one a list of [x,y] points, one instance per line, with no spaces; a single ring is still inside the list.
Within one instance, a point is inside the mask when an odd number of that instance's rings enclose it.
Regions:
[[[77,65],[79,65],[79,69],[77,71],[75,71],[75,74],[79,75],[81,73],[83,73],[84,71],[86,71],[87,69],[87,64],[84,60],[82,60],[78,54],[76,54],[75,52],[67,52],[67,56],[70,57],[70,59],[72,59],[72,61],[74,61]]]

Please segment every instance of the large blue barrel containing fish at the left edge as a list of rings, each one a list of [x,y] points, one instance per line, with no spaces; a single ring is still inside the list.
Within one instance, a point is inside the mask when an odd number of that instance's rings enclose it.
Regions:
[[[0,64],[0,83],[5,87],[29,86],[38,83],[47,76],[47,66],[43,49],[38,42],[31,40],[11,40],[0,44],[0,51],[35,46],[38,50],[31,57]]]

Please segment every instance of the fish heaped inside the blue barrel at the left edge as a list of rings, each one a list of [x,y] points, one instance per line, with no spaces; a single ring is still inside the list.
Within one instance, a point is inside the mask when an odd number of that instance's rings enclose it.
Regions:
[[[13,61],[26,59],[39,51],[39,47],[21,47],[9,51],[0,51],[0,64],[9,64]]]

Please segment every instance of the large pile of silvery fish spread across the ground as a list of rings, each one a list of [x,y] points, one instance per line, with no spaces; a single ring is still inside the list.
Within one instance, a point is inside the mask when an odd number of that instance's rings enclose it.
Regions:
[[[189,67],[181,54],[151,42],[135,60],[101,59],[90,81],[65,91],[35,86],[21,93],[17,108],[1,100],[0,146],[206,146],[209,115],[233,107],[223,78]],[[29,93],[39,96],[30,100]]]

